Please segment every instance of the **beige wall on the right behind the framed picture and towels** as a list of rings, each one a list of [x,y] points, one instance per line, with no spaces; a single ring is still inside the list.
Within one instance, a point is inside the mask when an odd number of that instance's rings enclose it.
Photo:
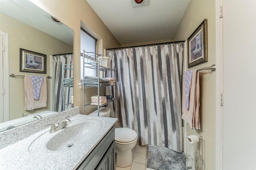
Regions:
[[[191,0],[172,37],[173,41],[187,40],[204,19],[208,23],[208,62],[192,67],[198,69],[215,64],[215,1]],[[187,59],[187,56],[184,56]],[[187,63],[184,62],[186,70]],[[200,130],[186,126],[187,135],[202,135],[206,170],[215,169],[215,72],[200,72]]]

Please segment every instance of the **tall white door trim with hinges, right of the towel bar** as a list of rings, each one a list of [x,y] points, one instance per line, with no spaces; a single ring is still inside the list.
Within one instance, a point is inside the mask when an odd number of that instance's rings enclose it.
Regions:
[[[223,0],[216,0],[216,153],[215,169],[223,170]]]

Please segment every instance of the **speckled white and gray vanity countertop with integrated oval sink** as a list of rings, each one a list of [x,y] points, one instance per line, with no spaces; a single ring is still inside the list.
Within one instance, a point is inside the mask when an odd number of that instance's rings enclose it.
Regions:
[[[0,149],[0,169],[75,169],[117,121],[87,115],[70,120],[62,130],[49,133],[48,127]],[[74,146],[66,147],[69,143]]]

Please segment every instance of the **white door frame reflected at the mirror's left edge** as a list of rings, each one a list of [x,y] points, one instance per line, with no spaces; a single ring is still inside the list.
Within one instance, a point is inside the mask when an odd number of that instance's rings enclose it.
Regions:
[[[4,88],[4,122],[9,121],[9,34],[0,31],[0,35],[3,36],[3,88]]]

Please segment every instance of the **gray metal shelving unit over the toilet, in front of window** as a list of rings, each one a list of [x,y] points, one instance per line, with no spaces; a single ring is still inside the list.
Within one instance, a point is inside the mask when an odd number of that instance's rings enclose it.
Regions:
[[[115,77],[116,77],[116,69],[111,69],[111,68],[106,68],[100,65],[100,62],[98,61],[98,57],[102,56],[101,54],[93,53],[93,52],[87,52],[83,50],[83,53],[81,55],[83,57],[83,82],[82,82],[82,89],[83,89],[83,115],[84,115],[84,108],[85,107],[94,107],[98,108],[98,116],[100,116],[100,108],[106,106],[107,104],[114,102],[114,101],[108,101],[107,103],[103,105],[99,105],[100,101],[100,87],[112,87],[115,85],[109,85],[109,86],[100,86],[100,71],[104,72],[104,76],[106,77],[108,71],[114,71],[115,72]],[[85,83],[84,79],[84,68],[90,68],[90,69],[95,69],[96,70],[96,75],[98,77],[98,83]],[[98,87],[98,105],[91,105],[89,104],[84,104],[84,95],[85,95],[85,88],[88,88],[88,85],[97,85]],[[95,88],[95,86],[92,86]],[[116,97],[116,93],[114,93],[114,98]],[[116,117],[116,111],[115,112],[115,117]]]

